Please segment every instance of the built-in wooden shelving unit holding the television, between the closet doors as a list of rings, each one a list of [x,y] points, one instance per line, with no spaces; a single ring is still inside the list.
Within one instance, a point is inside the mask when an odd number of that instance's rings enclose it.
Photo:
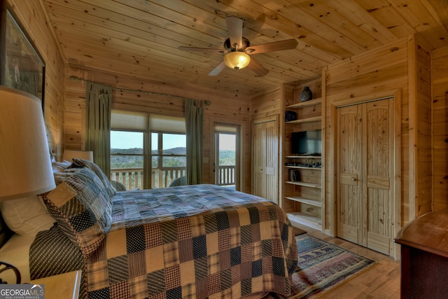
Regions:
[[[307,102],[300,101],[300,92],[309,86],[314,94]],[[282,207],[294,223],[323,231],[323,158],[319,155],[293,155],[293,132],[322,129],[321,80],[285,88],[285,113],[295,120],[283,125],[283,201]]]

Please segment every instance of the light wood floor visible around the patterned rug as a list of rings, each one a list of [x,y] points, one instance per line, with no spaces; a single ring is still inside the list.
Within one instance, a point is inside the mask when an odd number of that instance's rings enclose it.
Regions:
[[[312,298],[400,298],[400,262],[389,258],[382,253],[366,249],[351,242],[339,238],[329,237],[318,230],[314,230],[304,225],[297,225],[297,228],[306,230],[309,235],[324,239],[327,242],[341,246],[342,248],[356,252],[361,256],[375,260],[377,263],[365,272],[349,279],[344,284],[333,288],[323,295],[316,295]]]

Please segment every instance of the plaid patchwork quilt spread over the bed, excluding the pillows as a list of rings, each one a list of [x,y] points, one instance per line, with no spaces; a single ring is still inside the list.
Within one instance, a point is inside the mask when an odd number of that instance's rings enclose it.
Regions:
[[[214,185],[118,192],[85,256],[88,298],[290,295],[297,246],[274,202]]]

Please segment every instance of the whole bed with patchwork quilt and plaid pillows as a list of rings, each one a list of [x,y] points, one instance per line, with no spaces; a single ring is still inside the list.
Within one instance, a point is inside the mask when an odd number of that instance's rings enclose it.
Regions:
[[[297,246],[274,202],[208,184],[116,191],[88,160],[56,164],[40,195],[54,224],[22,246],[30,279],[83,270],[82,298],[290,295]]]

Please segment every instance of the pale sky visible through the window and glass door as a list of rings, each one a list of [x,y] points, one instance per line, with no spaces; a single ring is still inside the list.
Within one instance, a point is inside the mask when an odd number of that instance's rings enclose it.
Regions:
[[[176,135],[173,138],[169,137],[169,134],[165,134],[163,141],[165,149],[186,147],[185,139],[179,142],[179,138],[176,138]],[[220,134],[219,140],[221,150],[235,151],[235,134]],[[112,131],[111,148],[143,148],[143,133]]]

